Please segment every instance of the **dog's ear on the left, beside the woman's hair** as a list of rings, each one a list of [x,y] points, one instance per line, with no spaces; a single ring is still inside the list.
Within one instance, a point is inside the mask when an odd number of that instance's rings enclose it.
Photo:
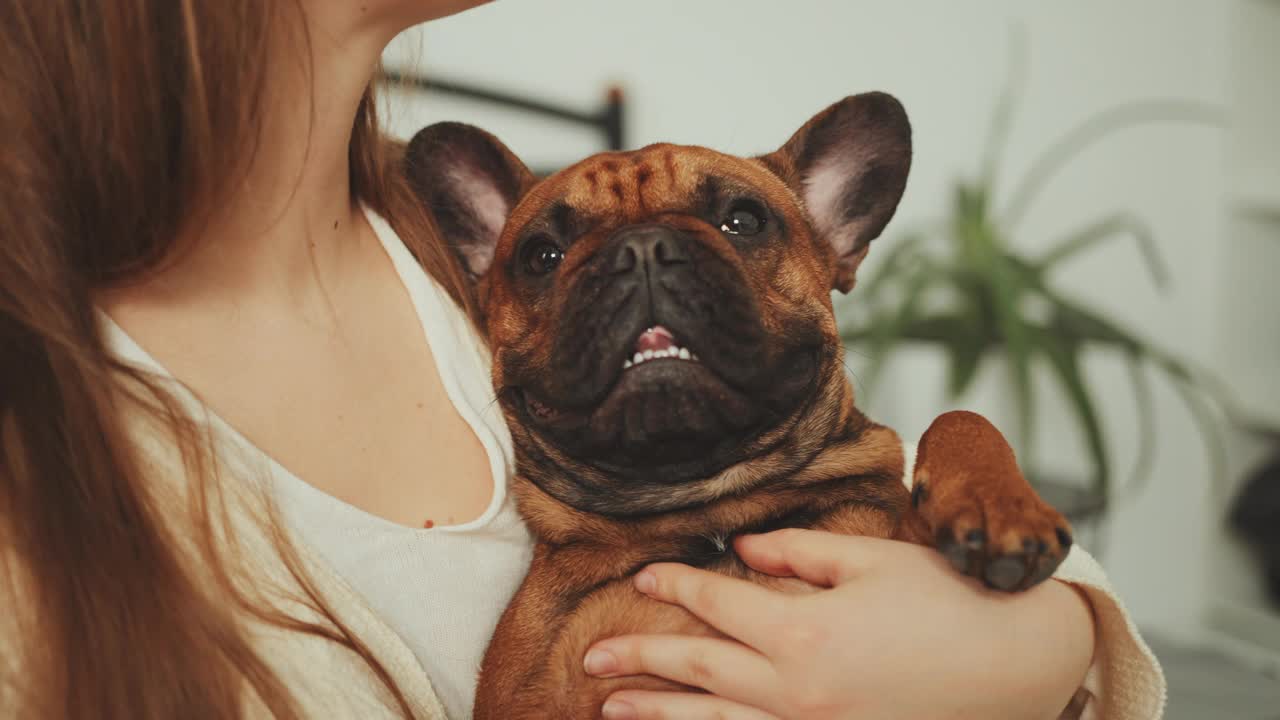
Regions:
[[[502,225],[534,186],[529,168],[480,128],[436,123],[410,141],[404,169],[472,279],[489,272]]]

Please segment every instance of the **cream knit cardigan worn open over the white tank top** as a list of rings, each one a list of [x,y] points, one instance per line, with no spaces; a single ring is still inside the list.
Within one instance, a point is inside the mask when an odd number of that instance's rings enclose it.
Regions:
[[[172,509],[168,515],[174,523],[175,536],[184,533],[180,519],[186,516],[188,483],[175,447],[150,420],[137,413],[131,420],[131,434],[148,477],[155,478],[155,496],[161,507]],[[910,454],[910,448],[908,448]],[[910,468],[910,459],[908,462]],[[219,459],[221,478],[250,474],[246,465],[234,456]],[[301,588],[296,584],[283,560],[274,550],[264,530],[268,503],[252,482],[221,482],[236,546],[243,562],[238,575],[244,587],[260,592],[265,602],[305,620],[320,621],[316,612],[300,602]],[[408,700],[415,716],[421,720],[447,720],[431,682],[422,671],[410,648],[365,603],[365,601],[329,569],[314,552],[294,543],[312,584],[326,598],[332,609],[361,638],[381,661],[396,684]],[[0,548],[3,551],[3,548]],[[193,553],[192,547],[184,552]],[[192,557],[189,566],[200,568]],[[1059,580],[1080,588],[1093,606],[1097,621],[1097,644],[1093,665],[1076,702],[1064,717],[1087,720],[1153,720],[1161,716],[1165,703],[1165,679],[1151,650],[1143,643],[1124,606],[1111,591],[1102,569],[1079,547],[1073,547],[1066,561],[1055,575]],[[20,580],[19,580],[20,584]],[[265,589],[264,589],[265,588]],[[5,593],[3,591],[10,591]],[[12,593],[17,592],[18,596]],[[13,612],[4,606],[13,600]],[[23,603],[20,587],[0,585],[0,717],[14,716],[13,691],[22,682],[23,669],[13,648],[14,633],[20,625]],[[312,635],[288,632],[244,618],[259,652],[291,687],[302,710],[310,717],[323,719],[392,719],[399,717],[389,693],[374,678],[365,662],[333,642]],[[8,691],[8,693],[6,693]],[[8,700],[6,700],[8,698]],[[265,708],[256,698],[246,698],[250,716],[265,716]],[[465,719],[452,719],[465,720]],[[554,720],[554,719],[549,719]]]

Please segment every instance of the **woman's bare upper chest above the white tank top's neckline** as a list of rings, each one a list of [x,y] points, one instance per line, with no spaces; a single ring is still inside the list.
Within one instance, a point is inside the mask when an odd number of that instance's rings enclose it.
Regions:
[[[475,402],[452,397],[488,389],[484,359],[454,357],[457,318],[426,316],[406,290],[394,274],[355,283],[321,319],[250,304],[180,318],[113,311],[229,432],[291,474],[397,524],[466,523],[500,477],[493,423],[463,418]],[[440,337],[429,343],[425,329]]]

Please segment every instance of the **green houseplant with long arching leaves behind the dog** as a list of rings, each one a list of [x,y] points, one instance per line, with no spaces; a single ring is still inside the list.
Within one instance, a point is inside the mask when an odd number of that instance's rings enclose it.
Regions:
[[[1220,474],[1222,451],[1210,402],[1219,397],[1215,383],[1175,354],[1108,318],[1105,309],[1070,297],[1053,283],[1056,270],[1066,260],[1108,242],[1133,240],[1153,281],[1164,287],[1162,260],[1146,224],[1128,213],[1111,214],[1082,222],[1076,232],[1043,252],[1020,251],[1015,242],[1019,219],[1046,182],[1096,141],[1143,123],[1212,124],[1217,122],[1216,113],[1178,100],[1140,101],[1103,111],[1050,145],[1012,186],[1007,204],[997,206],[996,174],[1012,115],[1012,95],[1006,90],[997,104],[980,174],[955,183],[941,222],[890,242],[888,255],[877,272],[864,278],[841,307],[845,342],[869,356],[861,380],[874,389],[879,370],[895,348],[925,343],[945,352],[948,395],[955,398],[970,387],[984,359],[1002,357],[1018,419],[1011,439],[1029,478],[1044,492],[1044,480],[1037,478],[1028,452],[1038,401],[1033,366],[1047,366],[1070,404],[1092,464],[1083,498],[1075,491],[1070,493],[1074,500],[1068,501],[1078,507],[1062,510],[1100,514],[1114,497],[1115,470],[1082,356],[1085,351],[1108,351],[1125,360],[1138,407],[1140,445],[1134,487],[1151,469],[1153,377],[1169,380],[1180,393]],[[1061,488],[1057,489],[1046,496],[1051,501],[1055,495],[1064,497]]]

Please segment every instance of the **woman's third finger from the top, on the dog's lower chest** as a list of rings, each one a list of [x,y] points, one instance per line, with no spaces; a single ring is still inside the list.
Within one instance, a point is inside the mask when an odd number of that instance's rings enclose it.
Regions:
[[[584,666],[600,678],[657,675],[750,705],[769,705],[778,693],[767,657],[719,638],[622,635],[596,643]]]

